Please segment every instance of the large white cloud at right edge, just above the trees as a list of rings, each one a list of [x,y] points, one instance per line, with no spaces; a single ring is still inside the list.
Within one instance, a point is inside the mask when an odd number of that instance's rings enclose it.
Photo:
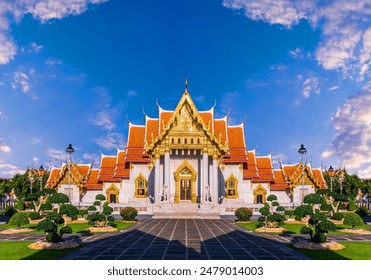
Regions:
[[[351,172],[366,175],[371,166],[371,92],[348,99],[332,123],[336,134],[322,157],[336,156]]]

